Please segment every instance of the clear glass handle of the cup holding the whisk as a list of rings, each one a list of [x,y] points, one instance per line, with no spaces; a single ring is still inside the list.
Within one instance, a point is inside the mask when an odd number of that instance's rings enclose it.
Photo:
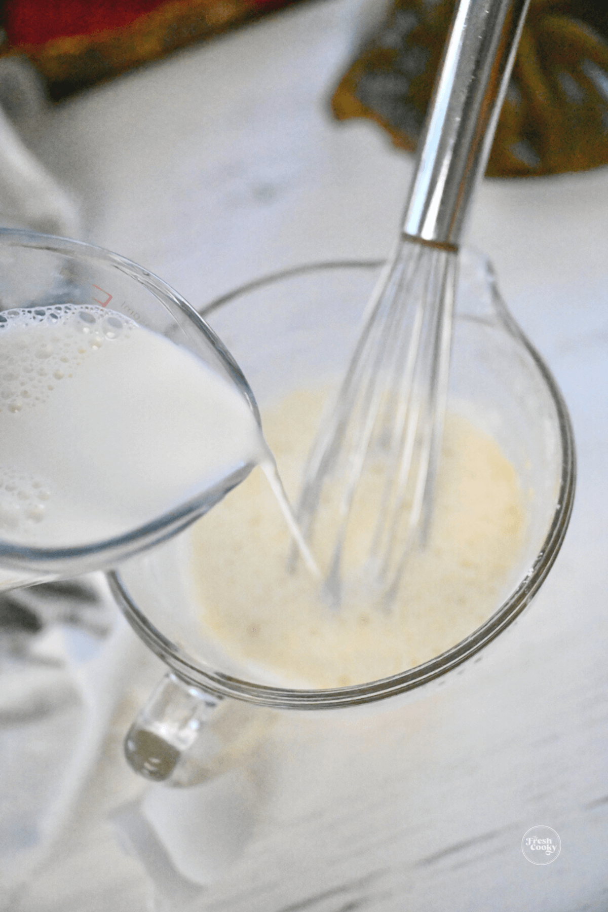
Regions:
[[[127,732],[129,765],[152,782],[169,779],[221,700],[173,672],[165,675]]]

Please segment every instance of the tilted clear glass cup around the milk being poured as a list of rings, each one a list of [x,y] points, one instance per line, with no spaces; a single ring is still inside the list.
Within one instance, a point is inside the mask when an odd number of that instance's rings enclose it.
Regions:
[[[41,308],[65,304],[108,308],[169,338],[235,385],[254,415],[258,415],[251,389],[232,356],[210,326],[169,285],[129,260],[90,244],[0,230],[2,310],[25,307],[42,313]],[[44,446],[45,441],[40,440],[40,447]],[[83,452],[83,460],[86,456]],[[234,467],[228,477],[187,503],[103,541],[77,542],[70,547],[34,547],[11,541],[9,531],[0,532],[0,589],[116,565],[191,523],[251,469],[252,464]]]

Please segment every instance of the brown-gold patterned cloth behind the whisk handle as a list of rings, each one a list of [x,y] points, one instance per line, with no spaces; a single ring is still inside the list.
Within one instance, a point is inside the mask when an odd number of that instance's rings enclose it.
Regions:
[[[394,0],[332,99],[335,117],[375,120],[415,150],[454,0]],[[608,2],[531,0],[491,150],[489,176],[608,163]]]

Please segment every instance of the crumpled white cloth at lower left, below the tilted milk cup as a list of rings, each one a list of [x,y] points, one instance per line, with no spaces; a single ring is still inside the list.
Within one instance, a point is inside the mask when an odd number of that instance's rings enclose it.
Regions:
[[[21,605],[41,629],[15,623],[0,633],[3,909],[60,838],[131,665],[133,636],[103,576],[57,592],[20,592],[15,612]]]

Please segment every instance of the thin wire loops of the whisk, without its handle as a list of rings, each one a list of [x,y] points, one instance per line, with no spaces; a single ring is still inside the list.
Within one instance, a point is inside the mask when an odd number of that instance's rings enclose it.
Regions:
[[[401,241],[367,308],[335,407],[304,472],[298,519],[309,541],[315,525],[325,527],[322,534],[331,543],[325,595],[336,605],[345,575],[353,576],[352,568],[345,573],[343,567],[353,526],[361,527],[363,520],[366,528],[365,554],[358,562],[364,572],[354,576],[365,578],[376,595],[398,583],[415,544],[436,470],[431,456],[442,424],[438,394],[448,377],[449,346],[441,341],[451,308],[447,267],[454,258]],[[366,491],[377,481],[377,518],[370,523]]]

